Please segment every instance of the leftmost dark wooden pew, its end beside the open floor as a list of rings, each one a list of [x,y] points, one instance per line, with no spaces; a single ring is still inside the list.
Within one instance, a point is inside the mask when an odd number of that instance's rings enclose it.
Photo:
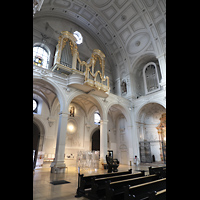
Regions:
[[[78,177],[78,188],[77,188],[75,197],[81,197],[81,196],[87,197],[88,192],[86,190],[88,190],[89,188],[91,189],[92,179],[114,177],[114,176],[125,175],[125,174],[132,174],[132,169],[129,169],[128,171],[124,171],[124,172],[114,172],[114,173],[108,173],[108,174],[95,174],[95,175],[90,175],[90,176],[84,176],[84,174],[78,174],[78,176],[79,176]]]

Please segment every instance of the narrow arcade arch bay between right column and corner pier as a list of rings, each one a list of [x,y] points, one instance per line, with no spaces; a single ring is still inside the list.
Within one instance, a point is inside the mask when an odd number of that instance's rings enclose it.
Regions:
[[[132,157],[132,127],[128,110],[120,104],[113,104],[108,110],[108,149],[121,164],[128,164]],[[129,151],[130,150],[130,151]]]

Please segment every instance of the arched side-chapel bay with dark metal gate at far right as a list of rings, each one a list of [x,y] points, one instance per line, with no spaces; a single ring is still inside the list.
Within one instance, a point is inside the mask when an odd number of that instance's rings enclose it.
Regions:
[[[152,162],[161,161],[162,141],[156,127],[160,124],[161,115],[166,109],[159,103],[148,103],[143,105],[137,113],[137,135],[139,139],[140,161]]]

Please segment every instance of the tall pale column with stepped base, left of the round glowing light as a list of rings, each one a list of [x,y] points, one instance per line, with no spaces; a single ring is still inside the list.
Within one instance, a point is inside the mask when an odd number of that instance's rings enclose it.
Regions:
[[[55,160],[52,162],[54,173],[64,172],[65,168],[59,169],[57,167],[65,167],[64,154],[65,154],[65,140],[66,140],[66,130],[67,130],[68,114],[60,112],[59,113],[59,124],[58,124],[58,134],[56,142],[56,152]]]

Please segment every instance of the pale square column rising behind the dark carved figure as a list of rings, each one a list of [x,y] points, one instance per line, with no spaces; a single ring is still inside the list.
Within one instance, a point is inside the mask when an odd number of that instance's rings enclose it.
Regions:
[[[108,120],[100,121],[100,163],[106,163]]]

